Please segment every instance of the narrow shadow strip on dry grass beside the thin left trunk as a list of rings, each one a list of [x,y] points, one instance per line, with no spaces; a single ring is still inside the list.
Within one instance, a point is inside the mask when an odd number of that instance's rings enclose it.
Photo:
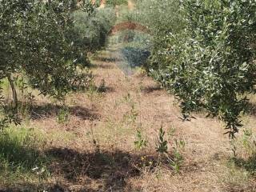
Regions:
[[[100,118],[99,114],[82,106],[65,106],[63,108],[63,106],[53,105],[50,103],[40,106],[31,106],[30,118],[33,120],[38,120],[41,118],[51,118],[58,115],[59,112],[63,109],[67,110],[70,115],[81,118],[82,120],[96,120]]]

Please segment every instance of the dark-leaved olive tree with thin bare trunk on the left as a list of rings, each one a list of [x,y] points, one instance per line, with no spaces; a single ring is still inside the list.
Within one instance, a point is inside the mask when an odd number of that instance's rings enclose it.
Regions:
[[[86,66],[86,54],[69,36],[74,5],[61,0],[0,0],[0,78],[10,82],[14,107],[14,74],[26,75],[31,86],[54,98],[90,82],[90,74],[78,72]]]

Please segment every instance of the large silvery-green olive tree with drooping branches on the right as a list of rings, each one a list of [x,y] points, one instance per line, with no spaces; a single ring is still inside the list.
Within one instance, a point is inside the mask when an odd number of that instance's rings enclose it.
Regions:
[[[149,70],[181,100],[185,119],[191,111],[206,110],[226,122],[233,137],[242,126],[244,95],[255,91],[256,2],[179,3],[176,19],[168,21],[171,28],[158,36]]]

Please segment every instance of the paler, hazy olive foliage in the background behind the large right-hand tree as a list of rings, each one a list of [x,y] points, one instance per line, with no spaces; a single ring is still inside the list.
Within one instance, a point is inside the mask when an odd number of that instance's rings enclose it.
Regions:
[[[149,66],[146,68],[155,70],[158,69],[161,63],[163,66],[166,63],[166,57],[159,54],[159,50],[168,49],[166,45],[166,34],[178,34],[182,31],[184,23],[182,14],[177,0],[162,0],[159,3],[156,0],[142,0],[136,2],[136,9],[132,12],[123,14],[122,20],[134,21],[147,26],[150,35],[150,53],[151,59]]]

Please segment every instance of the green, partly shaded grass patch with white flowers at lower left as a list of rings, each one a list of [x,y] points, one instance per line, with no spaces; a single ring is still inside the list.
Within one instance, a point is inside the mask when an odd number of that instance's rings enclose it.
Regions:
[[[0,185],[32,183],[49,175],[50,159],[42,152],[42,134],[26,127],[10,126],[0,134]]]

